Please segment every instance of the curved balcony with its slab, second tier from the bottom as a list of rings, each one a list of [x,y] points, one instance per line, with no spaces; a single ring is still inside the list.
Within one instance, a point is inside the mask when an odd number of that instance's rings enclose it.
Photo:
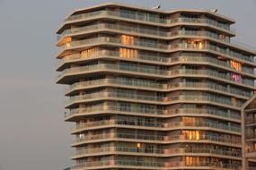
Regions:
[[[181,155],[216,155],[219,157],[235,157],[241,159],[241,151],[229,151],[224,149],[204,149],[204,148],[185,148],[185,149],[145,149],[145,148],[132,148],[132,147],[101,147],[101,148],[88,148],[76,150],[73,159],[86,157],[92,154],[122,154],[137,156],[155,156],[155,157],[177,157]]]

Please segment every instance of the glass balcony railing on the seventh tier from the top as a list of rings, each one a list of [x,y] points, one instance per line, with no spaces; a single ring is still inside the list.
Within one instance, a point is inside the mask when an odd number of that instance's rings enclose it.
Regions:
[[[231,100],[210,96],[210,95],[202,95],[202,96],[187,96],[187,95],[181,95],[181,96],[172,96],[172,97],[157,97],[154,95],[140,95],[140,94],[131,94],[131,93],[122,93],[122,92],[98,92],[93,94],[87,94],[87,95],[80,95],[80,96],[74,96],[71,97],[67,102],[66,105],[70,106],[74,103],[81,103],[86,101],[87,99],[93,99],[93,98],[125,98],[125,99],[137,99],[137,100],[146,100],[146,101],[154,101],[154,102],[160,102],[159,104],[169,103],[169,102],[175,102],[178,100],[190,100],[190,101],[197,101],[197,102],[214,102],[220,105],[225,106],[234,106],[234,107],[241,107],[243,106],[242,101],[236,101],[233,102]]]

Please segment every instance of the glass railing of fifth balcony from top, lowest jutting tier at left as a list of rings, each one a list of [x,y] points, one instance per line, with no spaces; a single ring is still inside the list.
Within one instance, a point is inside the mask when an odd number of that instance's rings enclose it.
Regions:
[[[72,67],[69,69],[64,70],[61,74],[58,75],[58,79],[61,79],[63,76],[67,76],[66,74],[76,74],[82,72],[92,72],[92,71],[101,71],[101,70],[113,70],[113,71],[126,71],[126,72],[141,72],[149,74],[149,76],[157,76],[163,78],[171,78],[172,76],[176,76],[179,74],[196,74],[200,76],[209,76],[217,79],[221,79],[224,81],[231,81],[235,84],[243,84],[245,86],[252,86],[254,87],[253,81],[244,81],[242,78],[239,81],[234,80],[231,75],[227,73],[219,73],[213,70],[207,69],[178,69],[172,71],[166,71],[157,68],[150,68],[143,65],[125,65],[125,64],[94,64],[94,65],[86,65],[82,67]]]

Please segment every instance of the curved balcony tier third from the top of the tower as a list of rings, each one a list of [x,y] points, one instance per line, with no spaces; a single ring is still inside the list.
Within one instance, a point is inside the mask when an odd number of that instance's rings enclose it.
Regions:
[[[220,47],[216,47],[209,44],[202,44],[202,45],[194,45],[188,43],[181,43],[181,44],[173,44],[173,45],[166,45],[163,43],[152,43],[142,39],[135,39],[134,42],[130,45],[125,44],[121,41],[120,38],[110,38],[110,37],[100,37],[100,38],[90,38],[84,40],[77,40],[72,41],[66,45],[60,47],[58,55],[61,55],[65,50],[74,49],[79,47],[86,47],[86,46],[95,46],[99,44],[114,44],[114,46],[125,46],[125,47],[139,47],[139,48],[150,48],[150,50],[159,51],[159,52],[174,52],[177,50],[192,50],[192,51],[208,51],[213,54],[217,55],[225,55],[227,58],[240,60],[241,62],[246,62],[246,64],[253,64],[253,57],[249,57],[246,55],[234,53],[229,50],[221,49]]]

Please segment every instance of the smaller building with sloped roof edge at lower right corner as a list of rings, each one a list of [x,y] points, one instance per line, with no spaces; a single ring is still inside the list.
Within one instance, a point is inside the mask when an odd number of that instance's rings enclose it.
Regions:
[[[256,95],[242,107],[243,170],[256,169]]]

